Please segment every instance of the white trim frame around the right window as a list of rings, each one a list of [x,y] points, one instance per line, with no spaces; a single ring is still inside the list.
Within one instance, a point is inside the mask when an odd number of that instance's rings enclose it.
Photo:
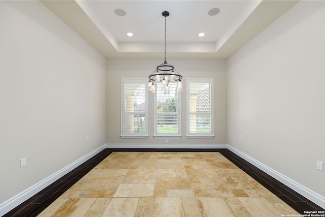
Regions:
[[[189,132],[189,98],[190,98],[190,82],[209,82],[211,91],[211,133],[190,133]],[[213,139],[214,138],[214,84],[213,78],[187,78],[186,79],[186,138],[188,139]]]

